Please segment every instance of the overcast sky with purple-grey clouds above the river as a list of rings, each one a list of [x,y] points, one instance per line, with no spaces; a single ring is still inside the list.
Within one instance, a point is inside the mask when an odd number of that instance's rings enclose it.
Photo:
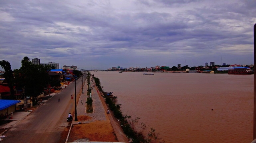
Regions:
[[[255,0],[0,0],[0,61],[250,65],[255,14]]]

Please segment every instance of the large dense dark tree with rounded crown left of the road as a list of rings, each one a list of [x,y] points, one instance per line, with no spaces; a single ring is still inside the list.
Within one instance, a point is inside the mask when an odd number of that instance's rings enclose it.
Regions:
[[[42,93],[48,84],[50,80],[49,67],[34,65],[29,60],[28,57],[24,57],[21,61],[22,66],[14,75],[19,86],[25,89],[25,95],[33,97]]]

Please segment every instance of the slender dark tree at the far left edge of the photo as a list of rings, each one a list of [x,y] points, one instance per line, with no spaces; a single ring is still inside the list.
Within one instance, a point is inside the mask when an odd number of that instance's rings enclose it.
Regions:
[[[4,69],[4,78],[8,83],[8,87],[10,88],[10,99],[14,99],[14,76],[13,76],[13,72],[11,69],[11,65],[8,61],[0,61],[0,65],[1,67]]]

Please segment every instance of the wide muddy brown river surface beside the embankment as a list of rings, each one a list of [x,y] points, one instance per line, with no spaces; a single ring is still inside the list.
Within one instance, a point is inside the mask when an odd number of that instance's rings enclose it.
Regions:
[[[253,75],[143,73],[91,72],[165,143],[252,141]]]

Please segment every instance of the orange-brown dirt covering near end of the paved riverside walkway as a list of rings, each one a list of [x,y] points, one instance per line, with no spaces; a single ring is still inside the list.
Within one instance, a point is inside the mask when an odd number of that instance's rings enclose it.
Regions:
[[[80,119],[89,119],[88,116],[80,116]],[[73,125],[68,142],[75,141],[113,141],[117,142],[117,137],[109,121],[95,121]]]

